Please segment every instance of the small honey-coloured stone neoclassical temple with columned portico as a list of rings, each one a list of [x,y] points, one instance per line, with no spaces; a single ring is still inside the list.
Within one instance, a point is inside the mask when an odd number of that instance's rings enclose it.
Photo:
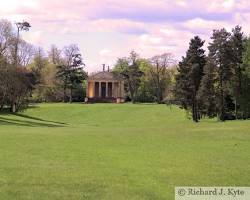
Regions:
[[[86,103],[123,103],[124,80],[121,76],[103,67],[102,72],[94,73],[87,79]]]

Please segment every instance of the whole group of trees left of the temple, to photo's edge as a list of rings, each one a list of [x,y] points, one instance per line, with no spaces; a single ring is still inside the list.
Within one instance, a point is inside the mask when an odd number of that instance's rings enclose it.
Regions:
[[[29,102],[84,100],[86,72],[77,45],[45,53],[21,38],[28,22],[0,20],[0,111],[17,112]]]

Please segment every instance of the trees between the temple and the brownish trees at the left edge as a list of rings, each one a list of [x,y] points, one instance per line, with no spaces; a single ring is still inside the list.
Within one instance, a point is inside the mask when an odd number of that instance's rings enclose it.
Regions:
[[[37,77],[32,102],[83,102],[87,73],[77,45],[40,49],[28,66]]]

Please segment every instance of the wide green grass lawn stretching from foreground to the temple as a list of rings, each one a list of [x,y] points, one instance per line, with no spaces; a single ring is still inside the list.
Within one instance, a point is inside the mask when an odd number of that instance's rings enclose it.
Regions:
[[[1,200],[172,200],[175,186],[250,186],[250,121],[145,104],[0,115]]]

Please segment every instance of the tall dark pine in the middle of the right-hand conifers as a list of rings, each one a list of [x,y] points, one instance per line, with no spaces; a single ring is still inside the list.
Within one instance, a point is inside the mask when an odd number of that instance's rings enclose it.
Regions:
[[[230,101],[230,81],[232,80],[232,45],[230,42],[231,34],[226,29],[214,30],[209,44],[209,57],[213,59],[218,68],[218,110],[219,119],[226,119],[226,112],[230,111],[227,101]]]

